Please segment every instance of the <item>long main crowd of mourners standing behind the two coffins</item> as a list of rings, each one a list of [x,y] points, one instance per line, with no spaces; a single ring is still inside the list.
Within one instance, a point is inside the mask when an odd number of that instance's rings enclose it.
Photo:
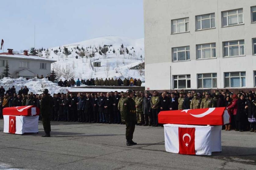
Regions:
[[[209,92],[195,92],[194,90],[184,93],[178,92],[158,93],[149,91],[133,91],[133,100],[136,103],[137,125],[159,126],[158,113],[166,110],[198,109],[210,107],[226,107],[231,114],[231,123],[225,126],[229,131],[256,132],[256,96],[254,91],[245,93],[214,90]],[[29,93],[25,86],[16,93],[13,86],[5,91],[0,88],[0,118],[4,107],[34,105],[40,108],[40,101],[44,94]],[[78,93],[78,94],[53,94],[51,120],[73,121],[107,124],[125,124],[123,115],[123,102],[126,93]],[[162,126],[162,125],[161,125]]]

